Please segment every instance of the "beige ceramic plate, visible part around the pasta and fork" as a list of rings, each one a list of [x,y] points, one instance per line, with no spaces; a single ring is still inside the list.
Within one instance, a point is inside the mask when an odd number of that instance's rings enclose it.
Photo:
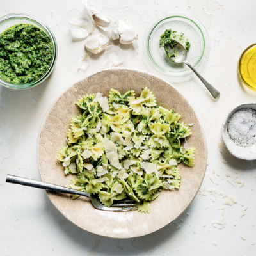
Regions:
[[[71,175],[65,176],[63,166],[56,161],[61,147],[66,145],[70,120],[80,113],[75,105],[79,97],[87,93],[103,92],[111,88],[124,93],[135,90],[140,93],[147,86],[156,95],[157,104],[174,109],[182,115],[182,122],[194,123],[188,147],[195,147],[195,166],[179,164],[182,181],[179,190],[161,191],[151,204],[150,214],[138,211],[107,212],[93,208],[87,198],[72,200],[69,195],[48,192],[51,202],[68,220],[78,227],[100,236],[129,238],[150,234],[177,218],[195,198],[204,179],[207,166],[207,147],[202,126],[188,101],[172,85],[136,70],[113,69],[94,74],[71,86],[54,102],[42,124],[38,138],[38,164],[45,182],[67,186]]]

